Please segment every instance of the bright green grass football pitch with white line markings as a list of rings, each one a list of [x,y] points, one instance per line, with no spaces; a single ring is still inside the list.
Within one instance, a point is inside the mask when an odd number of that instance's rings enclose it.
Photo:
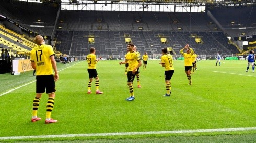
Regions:
[[[99,89],[87,94],[86,61],[57,63],[59,81],[52,118],[45,124],[44,93],[38,116],[31,122],[36,90],[33,71],[20,75],[0,74],[0,142],[255,142],[256,73],[248,72],[246,60],[197,61],[192,85],[184,72],[184,61],[175,60],[171,96],[166,93],[164,68],[159,60],[141,67],[135,100],[128,102],[127,76],[119,61],[99,61]],[[225,62],[225,63],[224,63]]]

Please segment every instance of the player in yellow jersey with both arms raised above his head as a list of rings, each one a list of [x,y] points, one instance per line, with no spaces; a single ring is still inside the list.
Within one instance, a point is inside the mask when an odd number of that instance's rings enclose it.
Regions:
[[[186,53],[183,53],[183,50],[186,49]],[[187,44],[183,49],[180,50],[180,54],[184,56],[184,62],[185,62],[185,73],[187,75],[187,78],[189,80],[189,85],[192,85],[191,80],[191,70],[192,70],[192,56],[194,54],[194,51],[192,48],[189,47],[189,44]]]

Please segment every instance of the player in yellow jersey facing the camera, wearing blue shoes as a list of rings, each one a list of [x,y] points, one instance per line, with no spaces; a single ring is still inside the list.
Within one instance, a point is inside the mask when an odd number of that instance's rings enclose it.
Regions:
[[[129,43],[127,45],[127,50],[129,51],[129,53],[127,54],[123,62],[119,62],[120,65],[129,63],[127,72],[127,85],[129,87],[130,97],[125,99],[127,101],[133,101],[135,99],[133,92],[133,80],[135,78],[137,69],[142,65],[141,59],[139,58],[139,55],[137,55],[135,51],[133,51],[133,47],[134,44],[132,43]]]

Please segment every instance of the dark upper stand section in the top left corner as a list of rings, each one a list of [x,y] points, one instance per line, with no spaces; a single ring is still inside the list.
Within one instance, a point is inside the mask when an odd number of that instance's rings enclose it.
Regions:
[[[53,32],[58,10],[56,4],[1,1],[0,5],[3,15],[8,16],[23,27],[42,35],[51,35]]]

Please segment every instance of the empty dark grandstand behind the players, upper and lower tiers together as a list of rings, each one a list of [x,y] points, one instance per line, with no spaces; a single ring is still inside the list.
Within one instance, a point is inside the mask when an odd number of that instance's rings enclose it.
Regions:
[[[28,4],[25,5],[26,8],[21,8],[24,5],[25,3],[21,2],[11,5],[5,1],[0,4],[3,8],[1,12],[4,11],[3,14],[13,17],[25,27],[40,17],[45,27],[27,28],[41,35],[54,32],[54,21],[57,19],[57,30],[52,40],[56,41],[56,50],[70,56],[87,55],[89,48],[95,47],[99,56],[123,57],[127,44],[125,37],[137,45],[139,52],[147,51],[149,57],[161,54],[161,49],[164,47],[172,47],[178,53],[187,43],[198,55],[216,55],[217,52],[222,55],[232,55],[240,51],[228,41],[227,34],[231,36],[240,36],[241,32],[255,34],[255,29],[250,29],[250,32],[239,30],[236,33],[238,30],[232,28],[237,28],[238,25],[227,22],[233,21],[247,27],[255,26],[256,13],[255,10],[250,11],[251,7],[229,7],[229,9],[211,7],[201,13],[62,9],[59,17],[56,18],[57,7],[53,4]],[[40,8],[44,8],[45,11],[38,12]],[[38,12],[38,15],[28,17],[32,11]],[[230,13],[237,17],[230,18]],[[250,16],[246,15],[248,13]]]

